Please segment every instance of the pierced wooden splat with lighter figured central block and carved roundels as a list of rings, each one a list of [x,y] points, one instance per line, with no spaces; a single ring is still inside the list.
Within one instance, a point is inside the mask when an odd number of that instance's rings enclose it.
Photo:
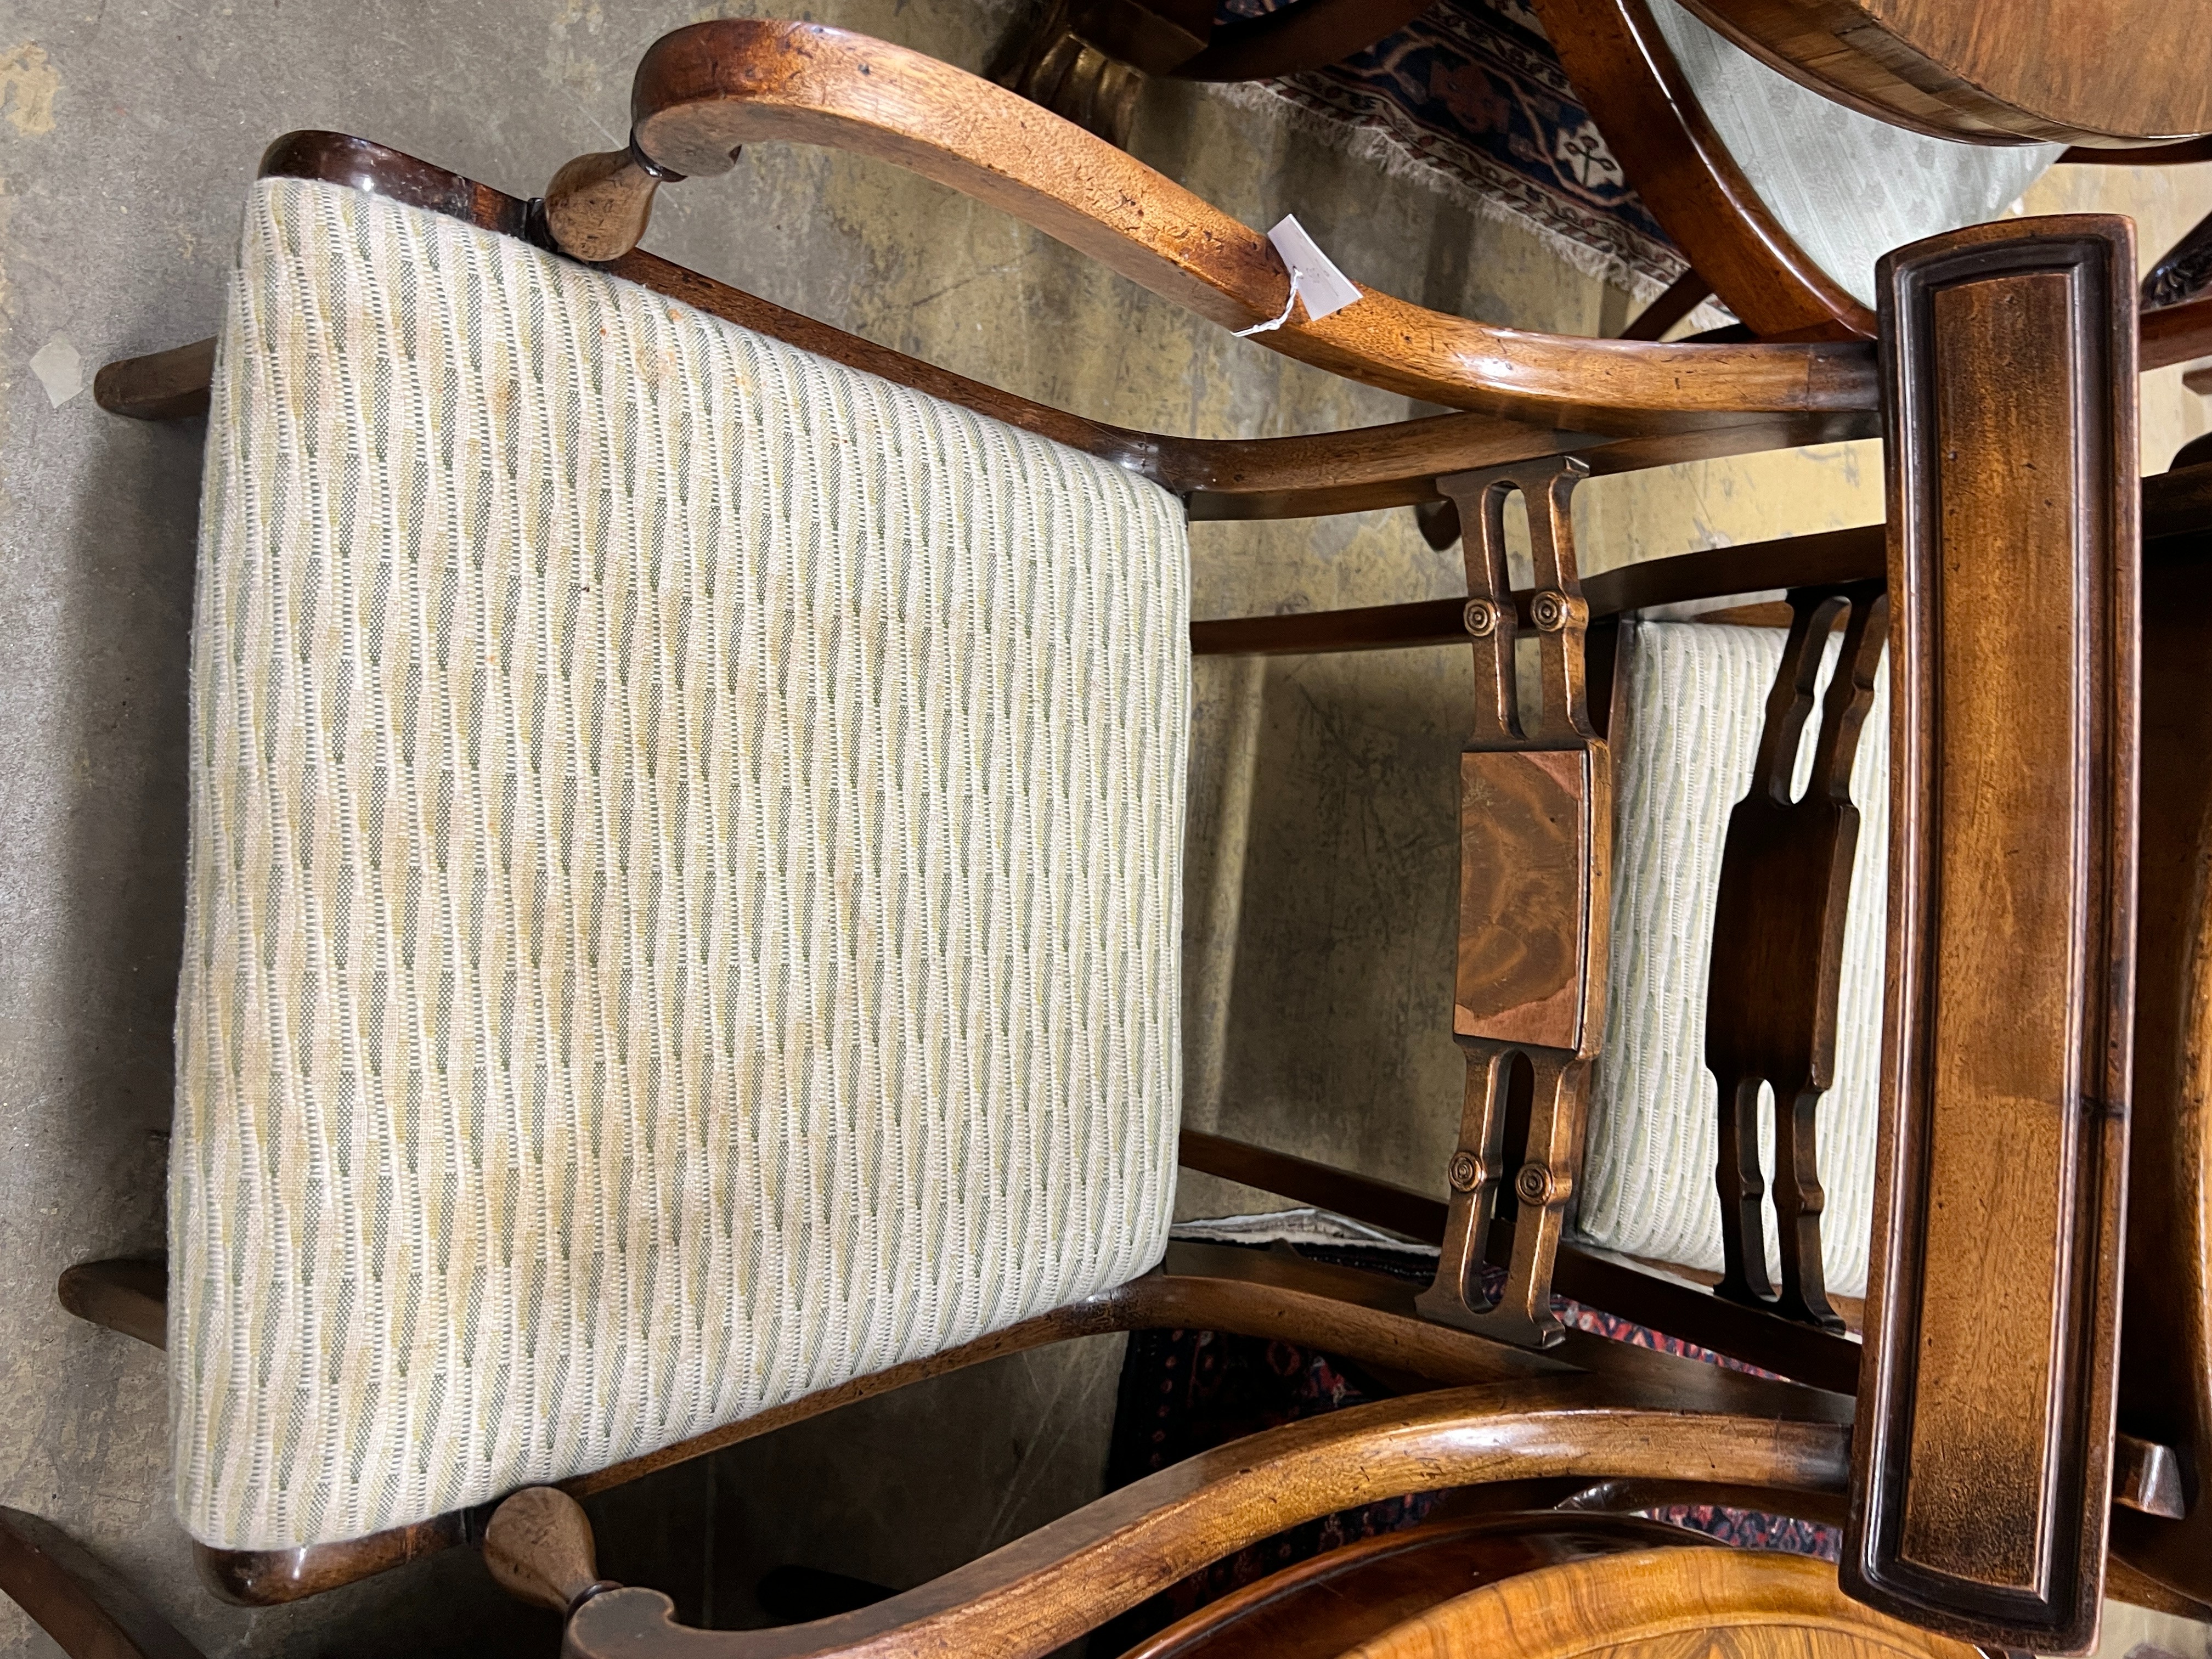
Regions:
[[[1460,754],[1460,960],[1453,1035],[1467,1051],[1451,1214],[1427,1318],[1544,1347],[1559,1340],[1551,1270],[1582,1170],[1590,1060],[1604,1029],[1613,856],[1613,761],[1590,728],[1571,498],[1588,469],[1542,460],[1440,478],[1473,533],[1467,635],[1475,653],[1475,730]],[[1504,504],[1528,504],[1542,703],[1515,684],[1520,617],[1506,580]],[[1528,1130],[1506,1146],[1513,1055],[1533,1075]],[[1509,1168],[1511,1164],[1511,1168]],[[1500,1183],[1513,1190],[1513,1259],[1495,1301],[1480,1270]]]

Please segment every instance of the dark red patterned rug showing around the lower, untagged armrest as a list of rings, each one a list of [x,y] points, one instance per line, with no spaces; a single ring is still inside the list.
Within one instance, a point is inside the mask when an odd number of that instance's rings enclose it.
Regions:
[[[1365,1267],[1420,1283],[1436,1276],[1433,1248],[1405,1245],[1387,1239],[1387,1234],[1356,1239],[1356,1234],[1365,1232],[1369,1230],[1343,1217],[1290,1210],[1276,1217],[1232,1217],[1223,1223],[1179,1225],[1172,1237],[1199,1243],[1239,1243],[1261,1250],[1285,1243],[1301,1256],[1343,1267]],[[1486,1270],[1486,1287],[1495,1294],[1504,1283],[1504,1272],[1491,1267]],[[1584,1307],[1566,1296],[1553,1296],[1553,1307],[1568,1325],[1610,1336],[1617,1343],[1635,1343],[1661,1354],[1681,1354],[1770,1376],[1752,1365],[1725,1358],[1694,1343],[1683,1343],[1646,1325],[1632,1325],[1595,1307]],[[1394,1391],[1365,1376],[1352,1360],[1294,1343],[1228,1336],[1223,1332],[1130,1332],[1128,1352],[1121,1360],[1121,1391],[1115,1402],[1113,1438],[1106,1451],[1106,1491],[1117,1491],[1183,1458],[1261,1429],[1387,1398],[1394,1398]],[[1294,1562],[1360,1537],[1416,1526],[1449,1493],[1391,1498],[1380,1504],[1323,1515],[1321,1520],[1276,1533],[1170,1584],[1150,1601],[1141,1601],[1102,1626],[1091,1639],[1091,1652],[1128,1652],[1177,1619]],[[1818,1555],[1827,1562],[1836,1559],[1840,1544],[1836,1531],[1829,1526],[1787,1515],[1721,1509],[1717,1504],[1677,1504],[1650,1511],[1650,1515],[1652,1520],[1705,1533],[1725,1544]]]

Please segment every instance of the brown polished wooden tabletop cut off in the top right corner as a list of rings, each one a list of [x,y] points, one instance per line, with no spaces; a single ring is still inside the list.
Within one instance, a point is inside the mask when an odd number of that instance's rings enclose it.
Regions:
[[[1745,51],[1936,137],[2212,133],[2212,0],[1683,0]]]

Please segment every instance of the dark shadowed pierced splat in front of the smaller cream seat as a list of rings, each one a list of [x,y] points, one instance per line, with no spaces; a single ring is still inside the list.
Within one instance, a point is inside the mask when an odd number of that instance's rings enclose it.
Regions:
[[[1836,1068],[1843,922],[1858,852],[1851,761],[1874,703],[1889,597],[1880,582],[1796,588],[1790,639],[1752,787],[1728,818],[1721,896],[1705,993],[1705,1066],[1721,1099],[1721,1259],[1717,1294],[1843,1329],[1820,1270],[1820,1190],[1814,1124]],[[1820,708],[1812,781],[1790,799],[1829,633],[1849,615]],[[1774,1214],[1783,1283],[1767,1283],[1765,1181],[1759,1168],[1759,1086],[1774,1088]]]

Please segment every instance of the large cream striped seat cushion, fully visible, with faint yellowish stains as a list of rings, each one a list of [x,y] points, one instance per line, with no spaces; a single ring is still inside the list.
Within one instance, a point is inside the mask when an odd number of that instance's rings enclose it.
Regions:
[[[188,1531],[400,1526],[1148,1270],[1186,564],[1106,462],[257,186],[192,646]]]

